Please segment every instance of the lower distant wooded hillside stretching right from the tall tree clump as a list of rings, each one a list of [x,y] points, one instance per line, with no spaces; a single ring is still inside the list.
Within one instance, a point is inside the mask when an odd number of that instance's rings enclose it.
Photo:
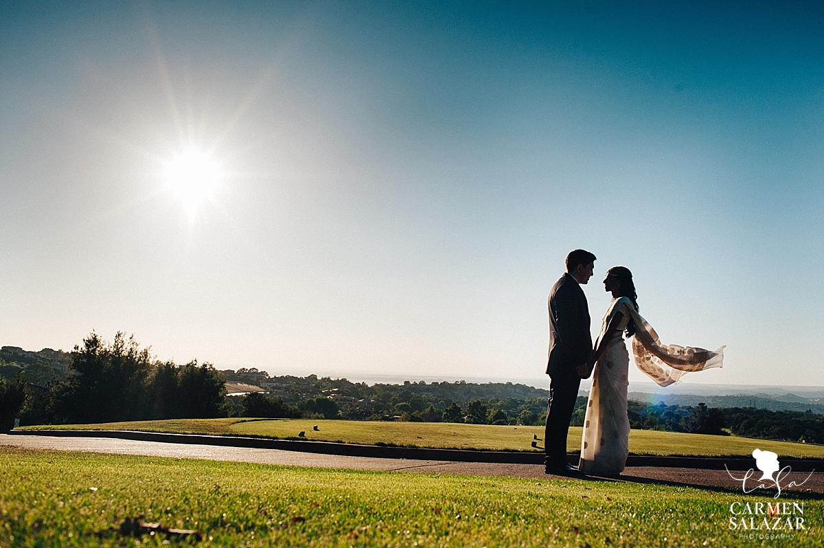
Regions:
[[[238,399],[237,415],[249,417],[311,417],[369,420],[452,422],[471,424],[523,424],[543,426],[545,393],[539,388],[505,383],[404,382],[402,385],[353,383],[346,379],[268,377],[245,369],[224,372],[236,382],[261,382],[274,394],[252,394]],[[505,397],[511,391],[527,398]],[[500,397],[504,396],[504,397]],[[271,402],[271,403],[265,403]],[[321,402],[321,403],[318,403]],[[322,404],[322,405],[321,405]],[[578,396],[570,424],[583,426],[587,398]],[[630,400],[630,428],[668,432],[704,433],[747,438],[824,443],[824,415],[810,410],[773,411],[747,407],[715,408],[697,405],[648,404]]]

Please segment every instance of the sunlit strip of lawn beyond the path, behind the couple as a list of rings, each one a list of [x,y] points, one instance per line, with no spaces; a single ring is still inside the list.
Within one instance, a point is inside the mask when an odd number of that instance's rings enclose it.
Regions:
[[[312,426],[317,425],[315,432]],[[531,447],[532,436],[544,438],[543,427],[489,426],[485,424],[400,423],[358,420],[306,419],[180,419],[108,424],[71,424],[58,429],[146,430],[151,432],[205,433],[217,435],[306,438],[328,442],[387,443],[416,447],[539,451]],[[24,429],[26,429],[24,428]],[[543,442],[538,442],[543,447]],[[567,447],[581,447],[581,428],[569,429]],[[824,458],[824,446],[809,443],[775,442],[736,436],[631,430],[630,453],[635,455],[695,455],[704,457],[750,456],[752,450],[772,451],[779,457]]]

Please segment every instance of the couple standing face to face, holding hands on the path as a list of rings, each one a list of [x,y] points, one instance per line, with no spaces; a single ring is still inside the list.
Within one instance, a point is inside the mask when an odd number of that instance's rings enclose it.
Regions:
[[[604,288],[612,302],[601,321],[601,332],[592,347],[587,297],[581,285],[595,268],[595,255],[575,250],[567,255],[566,273],[555,283],[549,297],[550,400],[546,413],[544,447],[546,473],[559,475],[618,475],[629,454],[630,419],[627,417],[627,375],[630,354],[624,344],[632,337],[635,365],[660,386],[677,382],[685,372],[720,368],[723,346],[705,349],[663,346],[643,317],[635,294],[632,273],[623,266],[606,271]],[[594,372],[593,372],[594,369]],[[567,461],[569,420],[575,408],[581,379],[592,374],[578,468]]]

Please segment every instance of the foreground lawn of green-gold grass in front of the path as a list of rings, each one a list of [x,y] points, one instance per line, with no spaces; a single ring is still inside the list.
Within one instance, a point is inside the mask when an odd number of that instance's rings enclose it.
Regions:
[[[804,504],[806,530],[764,544],[820,546],[821,497],[785,492],[781,500]],[[135,546],[137,539],[116,529],[139,515],[200,530],[202,546],[761,546],[729,530],[736,501],[773,502],[606,481],[0,447],[0,546]],[[164,540],[162,533],[142,539],[150,546]]]

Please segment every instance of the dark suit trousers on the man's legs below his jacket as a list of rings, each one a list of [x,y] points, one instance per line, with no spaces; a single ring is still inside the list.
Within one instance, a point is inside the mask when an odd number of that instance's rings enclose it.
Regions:
[[[546,411],[544,448],[546,466],[563,467],[568,464],[566,439],[569,434],[569,420],[575,409],[581,378],[571,375],[550,377],[550,400]]]

